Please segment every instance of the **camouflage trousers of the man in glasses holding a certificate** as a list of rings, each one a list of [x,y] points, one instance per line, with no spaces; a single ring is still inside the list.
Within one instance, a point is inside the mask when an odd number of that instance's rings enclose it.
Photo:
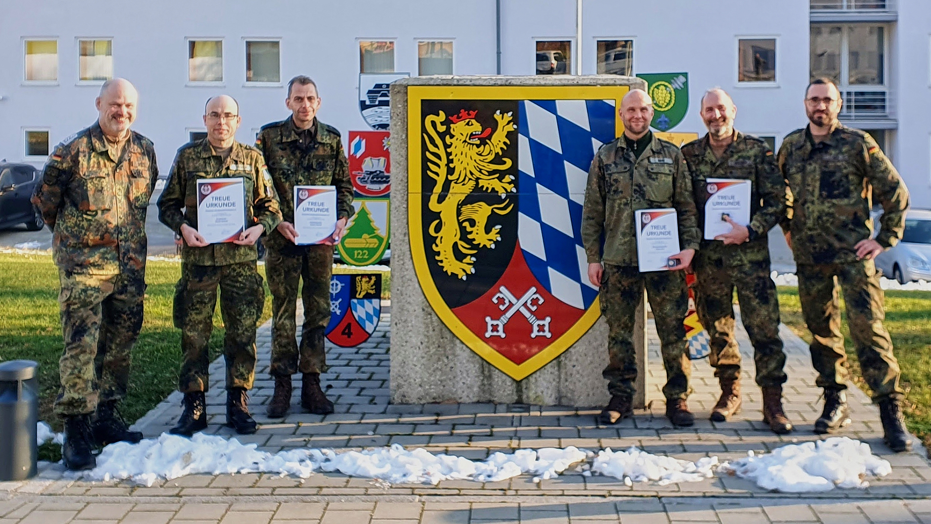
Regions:
[[[220,289],[220,313],[226,333],[226,389],[252,387],[255,379],[255,324],[262,314],[265,290],[255,261],[226,266],[182,263],[175,286],[174,324],[180,327],[183,360],[178,391],[209,391],[209,341]]]

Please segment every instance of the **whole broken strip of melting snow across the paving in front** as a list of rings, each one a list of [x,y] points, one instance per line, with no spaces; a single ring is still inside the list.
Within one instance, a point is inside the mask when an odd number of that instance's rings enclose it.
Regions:
[[[39,422],[37,429],[40,443],[50,438],[61,443],[61,434],[53,433],[45,422]],[[595,454],[574,447],[496,452],[479,462],[398,444],[360,451],[295,448],[272,454],[236,438],[198,433],[192,438],[161,434],[139,444],[118,442],[103,448],[93,470],[67,475],[87,480],[128,479],[152,486],[158,479],[196,474],[273,473],[306,478],[316,472],[339,472],[388,484],[434,485],[441,480],[497,482],[520,475],[533,475],[533,482],[538,483],[573,473],[614,476],[627,486],[700,482],[717,472],[748,478],[764,490],[797,493],[866,488],[867,476],[886,476],[892,467],[873,455],[868,444],[847,437],[792,444],[759,456],[750,451],[744,459],[724,463],[717,457],[683,461],[638,448],[605,448]]]

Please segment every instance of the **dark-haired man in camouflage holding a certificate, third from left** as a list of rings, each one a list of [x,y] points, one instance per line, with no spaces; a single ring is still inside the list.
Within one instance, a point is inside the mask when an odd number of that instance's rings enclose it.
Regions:
[[[284,417],[290,407],[291,375],[302,374],[301,406],[311,413],[333,412],[333,403],[320,388],[327,369],[323,330],[330,322],[330,280],[333,244],[343,236],[353,215],[353,187],[340,140],[340,131],[317,120],[320,97],[307,76],[288,82],[285,104],[291,116],[262,128],[255,146],[262,150],[281,198],[282,222],[265,242],[265,274],[272,291],[272,365],[275,393],[268,403],[271,418]],[[336,186],[337,223],[327,241],[296,245],[294,186]],[[304,280],[304,325],[301,347],[295,337],[297,292]]]

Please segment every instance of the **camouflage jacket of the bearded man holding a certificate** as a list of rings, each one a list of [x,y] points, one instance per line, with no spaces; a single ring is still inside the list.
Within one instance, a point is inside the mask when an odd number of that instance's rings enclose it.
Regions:
[[[701,255],[736,266],[769,260],[767,233],[786,213],[786,182],[776,167],[773,151],[761,139],[734,131],[734,143],[728,145],[720,159],[715,157],[708,134],[682,146],[682,156],[692,173],[698,228],[705,230],[705,203],[708,201],[708,178],[750,180],[749,240],[736,245],[704,240]]]

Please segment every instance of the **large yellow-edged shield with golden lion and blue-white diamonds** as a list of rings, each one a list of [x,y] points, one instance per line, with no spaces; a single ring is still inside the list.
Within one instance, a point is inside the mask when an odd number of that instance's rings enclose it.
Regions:
[[[431,306],[473,351],[524,379],[598,320],[582,203],[622,131],[626,86],[408,90],[409,222]]]

